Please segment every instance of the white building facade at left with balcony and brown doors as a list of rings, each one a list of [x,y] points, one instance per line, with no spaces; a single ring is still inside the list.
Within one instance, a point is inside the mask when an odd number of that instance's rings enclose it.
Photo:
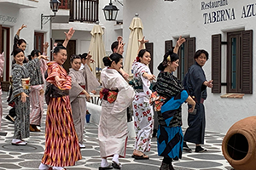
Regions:
[[[64,65],[66,70],[70,67],[69,57],[72,54],[88,53],[90,31],[96,25],[96,20],[100,22],[104,31],[103,41],[107,54],[111,54],[112,42],[118,36],[122,36],[122,25],[104,18],[102,8],[108,5],[109,0],[60,0],[61,5],[55,17],[51,20],[44,17],[41,23],[42,14],[54,15],[49,2],[50,0],[0,0],[0,53],[5,52],[2,88],[9,84],[14,37],[22,24],[26,25],[26,28],[20,31],[20,38],[27,42],[26,56],[33,49],[43,51],[44,42],[49,42],[48,55],[50,56],[53,43],[64,41],[64,31],[67,32],[73,27],[75,33],[67,47],[68,59]],[[113,2],[113,5],[119,8],[117,20],[122,20],[122,0],[119,2]]]

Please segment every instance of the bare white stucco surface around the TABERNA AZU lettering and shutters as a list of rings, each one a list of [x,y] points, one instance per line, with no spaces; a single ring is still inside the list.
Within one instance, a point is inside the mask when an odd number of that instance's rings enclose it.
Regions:
[[[253,30],[253,41],[256,41],[255,21],[256,17],[243,17],[242,9],[249,7],[248,4],[254,4],[254,13],[256,11],[255,1],[247,0],[228,0],[228,5],[209,8],[201,10],[201,3],[208,3],[210,1],[201,0],[177,0],[175,2],[168,2],[164,0],[124,0],[124,38],[129,37],[130,31],[128,29],[130,22],[135,13],[143,20],[143,34],[150,42],[154,42],[154,73],[157,73],[157,65],[161,62],[164,51],[165,41],[176,39],[178,36],[183,37],[196,37],[196,50],[203,48],[210,54],[210,59],[203,67],[206,72],[207,80],[211,79],[211,53],[213,34],[222,34],[222,41],[226,40],[226,32],[236,30]],[[232,20],[225,20],[205,24],[203,14],[217,12],[222,9],[229,9],[235,11],[235,18]],[[256,43],[253,43],[253,49],[256,48]],[[225,81],[225,51],[222,52],[222,82]],[[253,50],[253,58],[256,56]],[[256,60],[253,59],[253,65]],[[253,67],[253,72],[256,67]],[[156,74],[155,74],[156,75]],[[255,74],[253,74],[255,77]],[[214,82],[213,82],[214,83]],[[226,87],[222,87],[221,94],[225,94]],[[253,89],[256,89],[256,79],[253,78]],[[207,115],[207,130],[226,133],[227,130],[235,122],[247,116],[255,116],[254,107],[256,103],[256,91],[253,94],[245,94],[243,99],[222,99],[221,94],[212,94],[208,89],[208,98],[205,102],[206,115]],[[183,105],[183,125],[187,126],[187,113],[186,106]]]

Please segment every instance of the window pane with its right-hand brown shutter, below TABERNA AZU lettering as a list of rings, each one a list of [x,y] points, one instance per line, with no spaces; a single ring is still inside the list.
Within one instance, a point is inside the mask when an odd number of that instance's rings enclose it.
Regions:
[[[227,93],[253,94],[253,31],[227,33]]]

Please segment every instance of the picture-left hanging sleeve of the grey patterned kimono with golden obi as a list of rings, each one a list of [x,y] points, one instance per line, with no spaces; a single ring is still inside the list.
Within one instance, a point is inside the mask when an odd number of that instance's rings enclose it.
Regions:
[[[13,96],[17,96],[24,92],[24,89],[22,88],[22,75],[21,75],[21,70],[19,68],[14,68],[12,71],[12,78],[13,78]]]

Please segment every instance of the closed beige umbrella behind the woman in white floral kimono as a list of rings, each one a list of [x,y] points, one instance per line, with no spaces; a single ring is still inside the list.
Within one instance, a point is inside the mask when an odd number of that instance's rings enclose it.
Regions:
[[[138,14],[135,14],[135,17],[131,20],[129,29],[131,30],[131,33],[125,54],[124,70],[132,76],[131,65],[137,57],[137,50],[139,48],[138,40],[143,39],[143,22],[138,18]]]

